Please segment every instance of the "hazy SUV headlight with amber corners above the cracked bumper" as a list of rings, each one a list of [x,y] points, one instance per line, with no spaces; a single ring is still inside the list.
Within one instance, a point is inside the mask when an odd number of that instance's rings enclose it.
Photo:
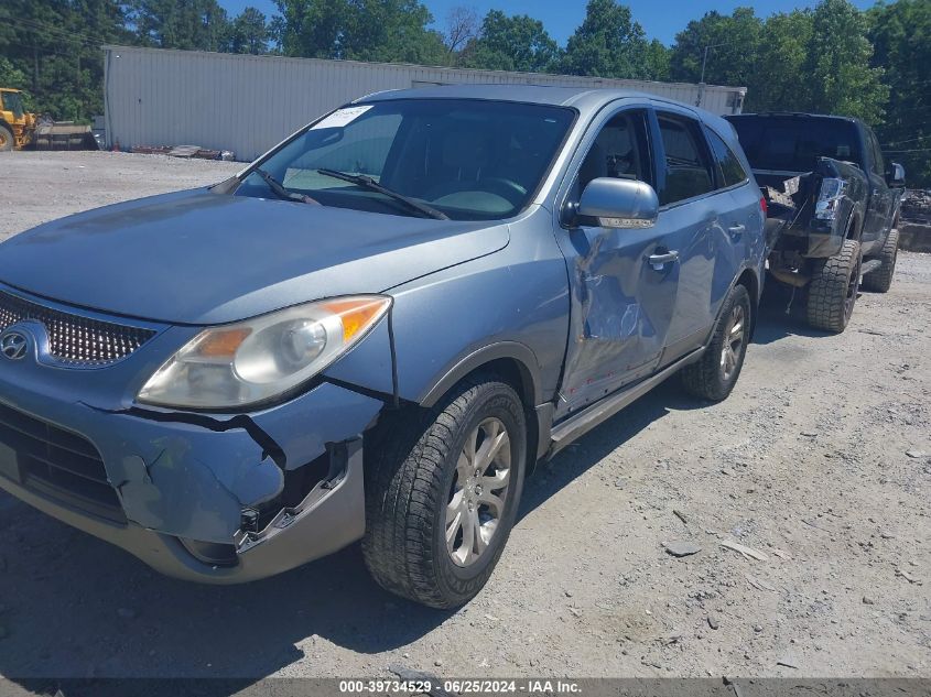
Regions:
[[[161,406],[242,407],[308,380],[381,319],[391,298],[339,297],[212,327],[152,375],[138,400]]]

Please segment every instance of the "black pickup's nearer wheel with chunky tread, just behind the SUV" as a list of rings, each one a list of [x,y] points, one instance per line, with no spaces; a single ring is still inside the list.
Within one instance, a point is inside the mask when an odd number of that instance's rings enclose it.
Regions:
[[[857,301],[859,242],[844,240],[841,251],[825,260],[816,260],[809,285],[808,322],[815,329],[843,331]]]

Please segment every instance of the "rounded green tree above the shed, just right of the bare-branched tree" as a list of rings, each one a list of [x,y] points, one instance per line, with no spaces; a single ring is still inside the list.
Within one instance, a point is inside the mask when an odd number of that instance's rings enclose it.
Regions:
[[[491,10],[481,21],[479,37],[468,47],[465,65],[487,70],[552,70],[560,57],[559,44],[543,23],[527,14],[507,17]]]

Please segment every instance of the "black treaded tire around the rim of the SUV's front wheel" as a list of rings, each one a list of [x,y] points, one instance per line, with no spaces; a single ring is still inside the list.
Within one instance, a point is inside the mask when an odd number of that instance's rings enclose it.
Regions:
[[[446,509],[459,486],[457,461],[465,443],[488,420],[498,420],[507,431],[509,483],[499,491],[504,507],[487,547],[461,566],[447,548]],[[399,596],[433,608],[464,605],[491,576],[520,503],[528,457],[520,397],[494,375],[467,379],[432,410],[390,414],[372,446],[366,448],[366,566],[380,586]],[[475,510],[477,518],[478,503]]]

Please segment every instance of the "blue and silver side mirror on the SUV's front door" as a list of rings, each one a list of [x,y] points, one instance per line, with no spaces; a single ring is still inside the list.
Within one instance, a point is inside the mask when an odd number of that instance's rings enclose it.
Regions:
[[[659,208],[657,193],[646,182],[598,177],[582,192],[575,213],[596,218],[603,228],[649,228]]]

